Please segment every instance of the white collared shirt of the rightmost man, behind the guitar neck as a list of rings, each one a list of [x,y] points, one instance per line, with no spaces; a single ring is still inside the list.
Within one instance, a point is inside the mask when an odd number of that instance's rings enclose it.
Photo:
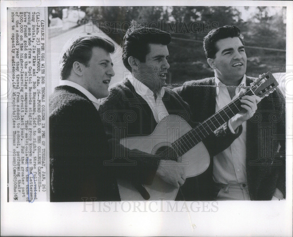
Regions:
[[[215,84],[225,86],[217,77]],[[246,86],[246,75],[240,85]],[[239,85],[239,86],[240,86]],[[237,98],[240,91],[246,89],[237,87],[235,96],[231,99],[226,87],[216,87],[216,112]],[[214,156],[213,178],[222,184],[235,184],[247,182],[246,176],[246,121],[242,123],[242,133],[224,151]]]

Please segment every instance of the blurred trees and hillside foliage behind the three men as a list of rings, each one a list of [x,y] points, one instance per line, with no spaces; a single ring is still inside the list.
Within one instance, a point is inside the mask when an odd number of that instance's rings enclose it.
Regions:
[[[286,47],[285,7],[279,8],[275,14],[266,6],[245,7],[244,11],[232,6],[105,6],[83,7],[82,10],[97,25],[100,22],[118,23],[117,29],[104,32],[120,45],[132,19],[171,33],[173,40],[168,49],[171,55],[169,71],[172,83],[213,75],[202,50],[202,38],[219,26],[238,26],[244,35],[246,46],[276,49]],[[242,13],[245,11],[251,13],[251,16],[243,20]],[[246,54],[247,74],[250,76],[258,76],[272,67],[283,68],[286,63],[285,52],[247,47]]]

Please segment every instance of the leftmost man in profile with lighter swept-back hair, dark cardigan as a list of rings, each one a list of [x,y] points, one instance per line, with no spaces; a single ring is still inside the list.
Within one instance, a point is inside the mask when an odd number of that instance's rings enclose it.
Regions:
[[[132,156],[135,170],[107,164],[117,148],[106,138],[98,99],[109,94],[114,50],[107,39],[84,36],[71,40],[61,54],[61,85],[49,102],[51,202],[120,201],[117,177],[144,180],[152,168],[144,153]]]

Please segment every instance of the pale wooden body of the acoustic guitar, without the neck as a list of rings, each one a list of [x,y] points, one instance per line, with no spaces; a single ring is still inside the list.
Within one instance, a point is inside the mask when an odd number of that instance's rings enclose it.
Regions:
[[[137,149],[152,155],[160,155],[162,150],[170,148],[171,143],[191,129],[190,125],[183,118],[177,115],[169,115],[157,124],[151,135],[124,138],[120,140],[120,144],[131,150]],[[176,153],[175,150],[173,150],[174,153]],[[177,158],[178,162],[184,166],[187,178],[204,172],[209,166],[210,159],[207,149],[202,142]],[[129,159],[131,160],[131,157]],[[117,183],[121,200],[145,200],[129,181],[117,179]],[[163,200],[174,200],[179,190],[157,176],[154,177],[151,185],[144,185],[144,187],[150,195],[149,200],[160,200],[162,198]]]

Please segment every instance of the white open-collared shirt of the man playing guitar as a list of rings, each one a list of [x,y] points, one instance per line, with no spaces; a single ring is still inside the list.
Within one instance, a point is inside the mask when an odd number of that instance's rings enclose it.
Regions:
[[[145,84],[137,80],[135,77],[133,77],[133,79],[129,79],[129,81],[133,85],[135,92],[139,94],[148,103],[157,123],[161,121],[164,117],[169,115],[162,101],[162,98],[165,94],[164,88],[161,88],[160,93],[157,95],[157,98],[155,99],[154,93],[149,89],[149,87],[147,87]]]

